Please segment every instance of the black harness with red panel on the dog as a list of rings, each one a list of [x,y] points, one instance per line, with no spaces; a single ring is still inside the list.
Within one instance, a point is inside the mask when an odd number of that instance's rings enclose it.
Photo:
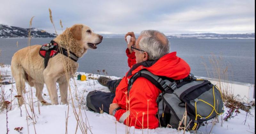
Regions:
[[[58,43],[52,40],[51,43],[44,44],[39,50],[39,55],[44,58],[44,68],[47,67],[49,59],[52,58],[53,56],[56,56],[58,53],[61,53],[62,55],[69,57],[75,62],[77,62],[79,58],[78,56],[76,56],[76,54],[70,51],[68,54],[68,50],[65,48],[60,47],[59,49]]]

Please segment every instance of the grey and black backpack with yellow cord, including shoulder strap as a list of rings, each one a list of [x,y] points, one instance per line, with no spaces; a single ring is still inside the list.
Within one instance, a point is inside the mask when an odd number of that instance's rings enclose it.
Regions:
[[[186,127],[187,130],[197,130],[204,121],[224,112],[222,94],[208,80],[196,79],[193,74],[181,80],[173,80],[141,70],[129,80],[128,93],[139,77],[147,78],[162,91],[157,99],[156,114],[162,127],[169,124],[176,129]]]

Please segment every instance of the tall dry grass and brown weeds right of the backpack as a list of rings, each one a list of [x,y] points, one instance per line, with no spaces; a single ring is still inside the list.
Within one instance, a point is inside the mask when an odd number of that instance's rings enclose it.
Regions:
[[[206,62],[203,62],[202,64],[205,67],[208,77],[214,78],[216,80],[213,82],[213,84],[215,84],[220,89],[220,92],[223,96],[224,106],[228,108],[227,113],[223,115],[225,116],[224,119],[221,116],[221,125],[223,120],[228,121],[229,119],[237,116],[240,113],[239,109],[242,109],[247,114],[250,114],[251,107],[245,106],[241,102],[243,98],[241,99],[239,96],[234,96],[232,90],[232,81],[230,81],[230,77],[233,77],[232,72],[229,71],[231,66],[224,61],[222,56],[215,56],[214,54],[211,54],[211,56],[208,57],[208,60],[210,61],[210,67],[207,66]],[[234,113],[235,115],[233,115]],[[218,117],[211,120],[210,123],[212,123],[212,128],[217,122],[219,122]]]

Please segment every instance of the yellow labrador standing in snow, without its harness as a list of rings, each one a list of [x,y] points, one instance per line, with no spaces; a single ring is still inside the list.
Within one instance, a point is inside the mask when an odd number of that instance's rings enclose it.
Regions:
[[[67,104],[67,79],[69,80],[78,68],[78,63],[74,58],[82,57],[88,48],[96,49],[96,45],[102,39],[101,35],[93,33],[91,28],[85,25],[76,24],[67,28],[62,34],[53,39],[53,42],[58,44],[59,48],[62,48],[61,50],[67,50],[66,54],[68,56],[60,50],[60,53],[49,58],[46,67],[44,58],[39,54],[41,45],[34,45],[17,51],[12,57],[11,70],[18,95],[20,95],[19,104],[23,104],[22,93],[25,92],[25,82],[36,88],[36,97],[44,105],[50,105],[42,97],[44,83],[49,92],[51,104],[59,104],[56,90],[56,82],[58,82],[61,102]],[[66,74],[68,74],[68,77],[66,77]]]

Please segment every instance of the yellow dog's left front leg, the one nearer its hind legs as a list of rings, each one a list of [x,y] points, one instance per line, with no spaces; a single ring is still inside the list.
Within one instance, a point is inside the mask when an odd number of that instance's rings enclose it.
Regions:
[[[58,105],[58,94],[57,94],[57,89],[56,89],[56,81],[57,78],[54,74],[45,74],[44,73],[44,83],[47,87],[47,90],[49,92],[51,101],[53,105]]]

